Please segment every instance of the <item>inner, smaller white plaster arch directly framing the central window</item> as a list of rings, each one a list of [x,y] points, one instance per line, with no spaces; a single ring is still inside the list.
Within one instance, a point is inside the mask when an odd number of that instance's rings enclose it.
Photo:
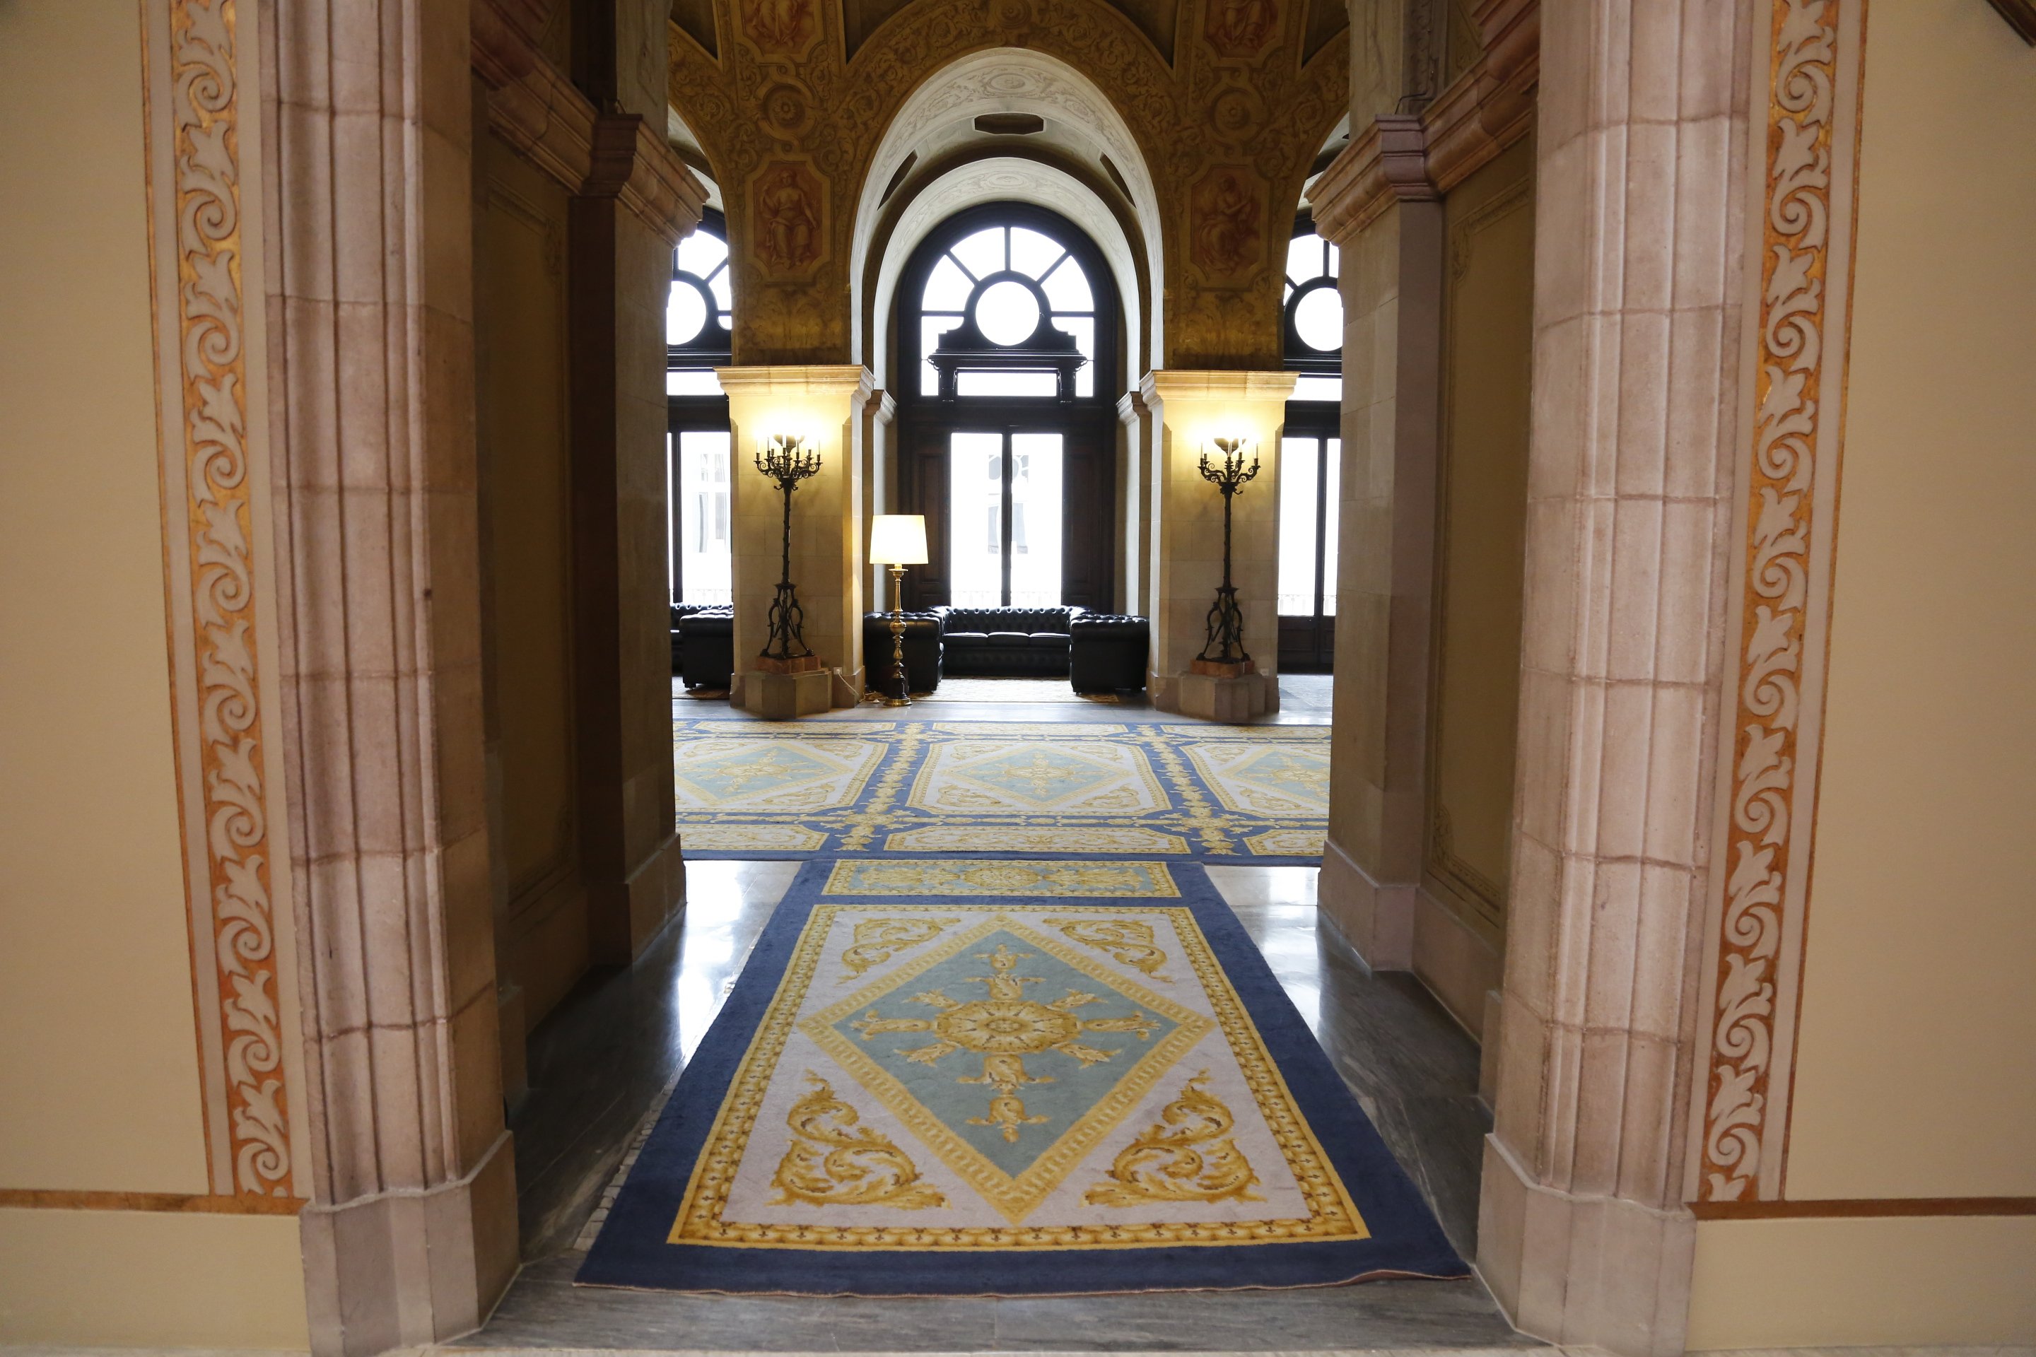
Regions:
[[[1136,387],[1140,376],[1136,370],[1136,336],[1142,313],[1138,305],[1138,260],[1130,238],[1124,234],[1124,226],[1110,212],[1110,205],[1095,195],[1095,189],[1065,169],[1018,157],[992,157],[987,161],[957,165],[920,189],[898,218],[896,230],[884,242],[884,256],[875,273],[873,315],[878,317],[880,342],[871,344],[863,356],[865,366],[875,372],[878,387],[894,389],[892,366],[896,352],[894,346],[882,342],[882,336],[888,334],[884,317],[890,315],[890,307],[898,295],[898,275],[904,273],[912,250],[918,248],[932,228],[957,212],[975,208],[977,203],[1000,201],[1051,208],[1079,226],[1104,252],[1110,275],[1118,285],[1118,303],[1124,307],[1124,334],[1134,340],[1126,362],[1126,380]],[[1154,287],[1152,291],[1156,293],[1158,289]],[[861,309],[857,309],[857,315],[861,315]]]

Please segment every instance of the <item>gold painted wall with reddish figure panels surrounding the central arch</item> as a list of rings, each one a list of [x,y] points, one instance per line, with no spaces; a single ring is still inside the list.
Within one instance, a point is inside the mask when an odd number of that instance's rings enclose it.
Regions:
[[[949,67],[1026,49],[1108,92],[1138,149],[1112,163],[1126,187],[1138,165],[1150,179],[1132,205],[1161,226],[1165,364],[1279,366],[1285,222],[1348,108],[1348,43],[1301,61],[1301,0],[1185,0],[1173,63],[1106,0],[912,0],[853,59],[839,4],[713,2],[719,57],[670,26],[670,98],[727,205],[737,362],[857,354],[859,208],[888,183],[892,124]]]

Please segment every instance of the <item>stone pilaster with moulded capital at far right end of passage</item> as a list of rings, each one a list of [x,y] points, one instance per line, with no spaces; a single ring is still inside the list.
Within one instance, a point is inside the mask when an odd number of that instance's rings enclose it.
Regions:
[[[1380,116],[1364,146],[1401,173],[1370,220],[1346,155],[1315,224],[1342,248],[1344,466],[1338,505],[1336,724],[1321,909],[1372,966],[1413,966],[1427,777],[1435,466],[1441,435],[1441,201],[1421,122]],[[1360,151],[1364,146],[1354,146]]]

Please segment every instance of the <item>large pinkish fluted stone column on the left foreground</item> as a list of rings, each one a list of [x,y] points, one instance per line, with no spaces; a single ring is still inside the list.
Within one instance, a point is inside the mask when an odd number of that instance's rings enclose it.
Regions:
[[[279,4],[263,114],[316,1353],[474,1329],[517,1267],[480,702],[464,6]],[[250,175],[252,179],[252,175]]]

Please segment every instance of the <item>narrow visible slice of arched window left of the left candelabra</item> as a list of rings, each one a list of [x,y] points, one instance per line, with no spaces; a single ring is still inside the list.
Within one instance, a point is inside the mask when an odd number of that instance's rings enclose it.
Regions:
[[[694,232],[672,250],[672,291],[664,305],[674,604],[733,600],[729,399],[715,376],[715,368],[729,364],[731,336],[727,224],[709,208]]]

